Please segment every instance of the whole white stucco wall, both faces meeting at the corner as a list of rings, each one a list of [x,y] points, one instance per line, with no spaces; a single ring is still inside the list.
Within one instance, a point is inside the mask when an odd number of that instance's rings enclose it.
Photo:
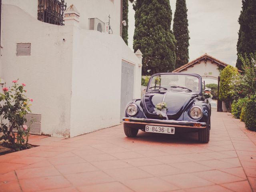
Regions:
[[[7,86],[17,78],[26,83],[42,133],[72,137],[119,124],[122,59],[135,70],[139,61],[119,34],[81,29],[71,20],[47,24],[8,4],[2,15],[0,77]],[[16,56],[20,42],[31,43],[30,56]],[[141,68],[135,73],[137,86]]]

